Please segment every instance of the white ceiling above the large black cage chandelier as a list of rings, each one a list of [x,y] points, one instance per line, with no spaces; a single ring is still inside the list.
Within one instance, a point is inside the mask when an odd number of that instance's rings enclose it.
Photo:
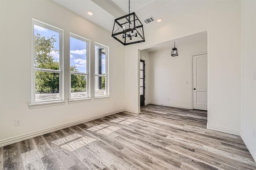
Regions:
[[[112,32],[115,18],[128,14],[128,0],[51,0],[58,5],[86,18],[87,20]],[[149,16],[165,18],[160,14],[161,9],[176,0],[130,0],[131,12],[136,12],[140,20]],[[90,16],[88,11],[94,14]],[[168,17],[168,11],[166,11]],[[145,27],[150,24],[144,24]]]

